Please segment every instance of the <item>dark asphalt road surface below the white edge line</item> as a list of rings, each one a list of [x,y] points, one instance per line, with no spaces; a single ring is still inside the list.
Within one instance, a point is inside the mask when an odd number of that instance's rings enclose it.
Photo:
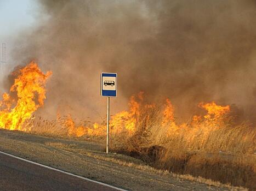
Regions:
[[[99,183],[83,180],[59,171],[44,168],[0,153],[1,191],[65,191],[65,190],[106,190],[117,189]]]

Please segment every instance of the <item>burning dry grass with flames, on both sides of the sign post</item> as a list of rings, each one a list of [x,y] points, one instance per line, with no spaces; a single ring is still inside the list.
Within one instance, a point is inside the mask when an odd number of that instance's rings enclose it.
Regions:
[[[129,111],[111,117],[111,151],[142,159],[157,169],[255,190],[255,127],[237,122],[229,106],[214,102],[199,106],[206,110],[205,115],[177,123],[169,99],[154,104],[146,102],[142,94],[133,96]],[[54,121],[32,119],[26,129],[37,134],[105,142],[104,121],[75,122],[71,116]]]

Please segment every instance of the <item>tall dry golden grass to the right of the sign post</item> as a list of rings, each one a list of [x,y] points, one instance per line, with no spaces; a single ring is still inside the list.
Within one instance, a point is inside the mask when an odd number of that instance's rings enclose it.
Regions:
[[[163,107],[141,104],[133,133],[126,121],[113,127],[111,149],[143,159],[157,168],[178,174],[211,178],[234,186],[256,189],[256,129],[236,124],[229,115],[177,124],[163,123]]]

